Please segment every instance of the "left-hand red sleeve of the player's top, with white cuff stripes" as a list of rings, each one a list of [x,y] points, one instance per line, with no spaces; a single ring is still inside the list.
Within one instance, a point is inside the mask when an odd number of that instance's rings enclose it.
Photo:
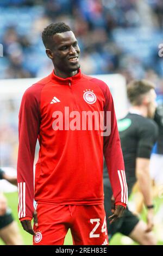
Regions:
[[[18,217],[32,220],[34,211],[35,147],[40,127],[41,86],[35,84],[23,95],[18,123],[19,148],[17,160]]]

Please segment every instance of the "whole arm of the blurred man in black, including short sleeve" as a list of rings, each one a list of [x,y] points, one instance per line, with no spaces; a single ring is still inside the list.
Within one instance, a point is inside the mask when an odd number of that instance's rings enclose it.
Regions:
[[[148,123],[147,123],[148,121]],[[153,209],[148,209],[152,203],[152,180],[149,173],[149,161],[152,147],[158,136],[158,127],[152,120],[146,119],[146,123],[137,129],[139,135],[137,156],[136,156],[136,178],[142,193],[143,200],[147,206],[147,232],[153,228]]]

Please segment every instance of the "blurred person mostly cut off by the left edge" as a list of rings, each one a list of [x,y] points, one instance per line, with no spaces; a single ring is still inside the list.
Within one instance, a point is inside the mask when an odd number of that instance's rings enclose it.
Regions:
[[[0,180],[7,180],[13,185],[17,185],[16,177],[11,177],[0,169]],[[0,192],[0,238],[5,245],[22,245],[22,238],[18,230],[16,221],[7,205],[7,199]]]

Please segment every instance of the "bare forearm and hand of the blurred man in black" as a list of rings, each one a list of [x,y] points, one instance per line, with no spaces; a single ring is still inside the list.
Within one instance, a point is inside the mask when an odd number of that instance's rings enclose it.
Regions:
[[[149,174],[149,159],[137,157],[136,177],[140,192],[142,193],[144,198],[145,205],[152,205],[152,180]],[[152,231],[154,225],[153,218],[153,209],[147,209],[147,232]]]

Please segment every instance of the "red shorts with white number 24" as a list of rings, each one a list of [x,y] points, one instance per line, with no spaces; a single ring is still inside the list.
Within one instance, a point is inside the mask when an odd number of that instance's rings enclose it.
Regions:
[[[63,245],[70,228],[73,245],[108,245],[102,205],[37,205],[34,245]]]

